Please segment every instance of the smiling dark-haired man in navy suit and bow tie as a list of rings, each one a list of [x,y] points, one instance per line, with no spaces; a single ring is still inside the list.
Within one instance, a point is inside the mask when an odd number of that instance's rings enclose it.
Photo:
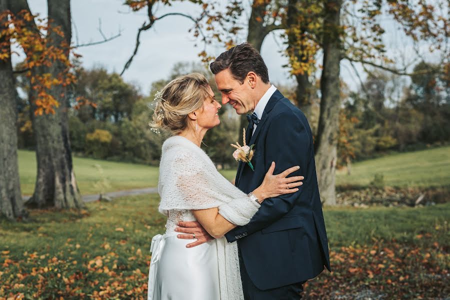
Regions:
[[[328,242],[314,162],[312,133],[304,114],[269,83],[259,52],[242,43],[210,64],[222,103],[247,115],[246,144],[254,144],[248,164],[239,162],[235,185],[248,193],[261,184],[272,161],[275,172],[299,165],[299,191],[265,199],[250,222],[225,234],[237,240],[245,299],[297,299],[303,283],[330,270]],[[286,186],[287,188],[287,186]],[[198,245],[211,239],[197,222],[180,222],[177,231],[195,233]],[[181,234],[180,238],[192,238]]]

